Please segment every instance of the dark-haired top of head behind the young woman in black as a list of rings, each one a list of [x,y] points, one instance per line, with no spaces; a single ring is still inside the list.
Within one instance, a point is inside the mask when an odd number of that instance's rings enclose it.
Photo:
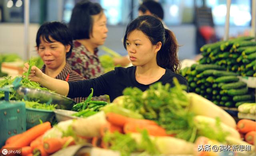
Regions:
[[[141,15],[152,15],[154,14],[160,20],[164,19],[164,10],[158,2],[154,0],[145,0],[139,7],[139,16]]]

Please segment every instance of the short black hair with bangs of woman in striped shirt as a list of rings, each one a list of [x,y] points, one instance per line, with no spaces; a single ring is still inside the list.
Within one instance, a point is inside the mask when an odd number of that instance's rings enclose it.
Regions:
[[[46,22],[42,24],[36,34],[36,47],[38,48],[41,40],[40,37],[46,42],[53,43],[49,37],[52,37],[55,41],[62,43],[63,45],[70,45],[70,50],[66,53],[66,58],[70,57],[73,47],[72,35],[68,30],[68,27],[64,23],[58,21]]]

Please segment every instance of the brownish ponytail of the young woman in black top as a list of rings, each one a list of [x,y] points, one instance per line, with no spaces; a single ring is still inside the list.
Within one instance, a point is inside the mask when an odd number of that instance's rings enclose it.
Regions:
[[[175,73],[178,73],[181,67],[178,60],[178,41],[172,31],[165,30],[165,41],[160,51],[156,55],[156,62],[162,68],[168,68]]]

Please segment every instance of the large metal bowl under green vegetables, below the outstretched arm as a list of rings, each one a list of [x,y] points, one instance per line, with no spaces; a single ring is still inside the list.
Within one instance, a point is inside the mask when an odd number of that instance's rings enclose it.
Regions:
[[[76,102],[68,97],[62,96],[60,94],[47,92],[44,90],[38,90],[33,88],[19,87],[16,92],[18,93],[18,98],[28,101],[37,101],[39,103],[52,103],[58,104],[57,109],[67,109],[70,110]]]

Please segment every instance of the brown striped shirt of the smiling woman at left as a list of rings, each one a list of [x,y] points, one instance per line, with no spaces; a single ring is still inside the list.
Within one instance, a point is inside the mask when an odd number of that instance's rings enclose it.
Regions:
[[[41,68],[42,72],[45,73],[45,65]],[[79,75],[77,72],[71,69],[70,64],[66,63],[63,70],[58,74],[56,79],[64,80],[68,82],[74,82],[79,80],[85,80],[85,78]],[[76,97],[73,100],[77,103],[82,102],[86,99],[86,97]]]

